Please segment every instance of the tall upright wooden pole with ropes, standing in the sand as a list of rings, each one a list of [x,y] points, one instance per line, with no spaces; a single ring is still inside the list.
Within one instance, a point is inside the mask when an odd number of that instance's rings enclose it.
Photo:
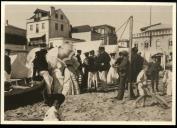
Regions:
[[[131,63],[132,63],[132,42],[133,42],[133,16],[130,16],[129,18],[130,21],[130,34],[129,34],[129,84],[128,84],[128,92],[129,92],[129,99],[133,99],[135,97],[134,92],[133,92],[133,87],[131,83]]]

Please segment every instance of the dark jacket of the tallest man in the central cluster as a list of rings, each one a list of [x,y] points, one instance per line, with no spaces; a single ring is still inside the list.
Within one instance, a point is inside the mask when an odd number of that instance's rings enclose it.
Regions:
[[[96,63],[98,65],[98,70],[99,71],[107,71],[110,68],[110,61],[111,58],[107,52],[103,52],[98,55],[96,59]]]

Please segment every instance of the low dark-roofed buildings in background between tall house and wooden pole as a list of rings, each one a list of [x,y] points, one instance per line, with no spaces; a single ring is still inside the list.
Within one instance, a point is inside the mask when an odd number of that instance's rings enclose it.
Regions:
[[[110,25],[99,26],[76,26],[72,28],[72,37],[84,39],[86,41],[102,40],[103,45],[117,44],[115,28]]]

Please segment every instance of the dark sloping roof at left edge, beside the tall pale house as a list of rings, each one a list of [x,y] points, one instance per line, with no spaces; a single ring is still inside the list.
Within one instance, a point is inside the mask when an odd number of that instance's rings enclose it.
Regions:
[[[13,26],[13,25],[5,26],[5,33],[26,37],[26,30],[25,29],[18,28],[18,27]]]

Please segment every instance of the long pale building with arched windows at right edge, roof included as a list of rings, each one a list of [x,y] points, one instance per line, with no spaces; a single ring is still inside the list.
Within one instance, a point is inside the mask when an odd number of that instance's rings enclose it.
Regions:
[[[170,56],[172,54],[172,27],[165,24],[154,24],[140,29],[141,33],[133,35],[133,47],[149,60],[154,54]],[[164,60],[165,61],[165,60]]]

